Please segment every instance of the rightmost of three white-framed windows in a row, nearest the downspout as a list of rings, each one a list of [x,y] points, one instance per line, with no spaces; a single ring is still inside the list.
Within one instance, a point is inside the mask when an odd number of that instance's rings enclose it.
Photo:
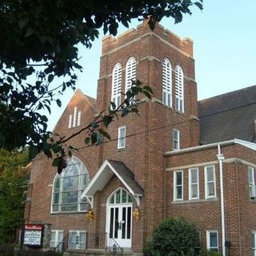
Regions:
[[[206,198],[216,198],[215,166],[205,166]]]

